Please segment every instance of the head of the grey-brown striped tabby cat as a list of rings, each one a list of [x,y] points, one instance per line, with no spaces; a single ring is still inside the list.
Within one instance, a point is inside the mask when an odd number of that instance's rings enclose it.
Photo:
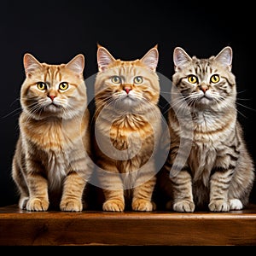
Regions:
[[[236,80],[231,72],[232,49],[227,46],[209,58],[190,57],[184,49],[173,52],[172,82],[191,108],[233,108]],[[175,95],[175,93],[173,93]]]

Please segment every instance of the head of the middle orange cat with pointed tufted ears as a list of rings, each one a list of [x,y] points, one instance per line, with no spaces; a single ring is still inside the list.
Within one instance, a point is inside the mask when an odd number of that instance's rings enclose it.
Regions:
[[[96,106],[108,104],[117,111],[146,111],[149,103],[156,105],[160,97],[160,84],[155,72],[158,49],[149,49],[141,59],[122,61],[115,59],[108,49],[98,44],[96,76]],[[113,104],[112,104],[113,103]]]

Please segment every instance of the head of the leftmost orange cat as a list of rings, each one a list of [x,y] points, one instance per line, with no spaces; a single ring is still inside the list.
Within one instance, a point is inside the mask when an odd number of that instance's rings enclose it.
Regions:
[[[20,90],[20,104],[31,118],[71,119],[84,111],[84,55],[76,55],[67,64],[50,65],[26,53],[23,63],[26,79]]]

